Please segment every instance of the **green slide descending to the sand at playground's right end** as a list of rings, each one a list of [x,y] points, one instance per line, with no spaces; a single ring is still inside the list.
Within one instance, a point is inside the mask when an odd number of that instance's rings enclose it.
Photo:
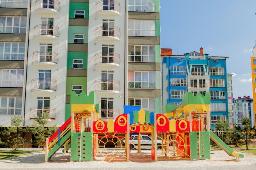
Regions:
[[[213,140],[218,146],[220,146],[220,148],[222,148],[222,150],[224,150],[229,156],[232,157],[239,157],[239,158],[243,158],[244,155],[243,154],[238,154],[236,152],[234,152],[231,148],[229,148],[229,146],[227,146],[227,144],[225,144],[224,141],[222,141],[217,135],[215,135],[215,133],[213,133],[210,130],[210,138],[211,140]]]

